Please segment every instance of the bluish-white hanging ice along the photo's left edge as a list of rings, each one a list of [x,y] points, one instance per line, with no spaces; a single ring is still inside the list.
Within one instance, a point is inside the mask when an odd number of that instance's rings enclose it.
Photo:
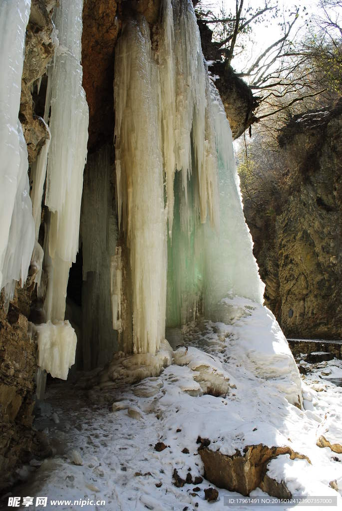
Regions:
[[[7,301],[15,282],[26,281],[34,246],[28,154],[18,121],[30,7],[30,0],[0,5],[0,290],[6,286]]]

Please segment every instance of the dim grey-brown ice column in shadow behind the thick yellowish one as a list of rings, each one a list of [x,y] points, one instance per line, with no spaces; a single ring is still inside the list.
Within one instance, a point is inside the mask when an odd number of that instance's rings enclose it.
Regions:
[[[104,365],[118,347],[111,306],[111,258],[118,238],[112,176],[112,150],[105,146],[88,157],[84,173],[80,232],[84,369]]]

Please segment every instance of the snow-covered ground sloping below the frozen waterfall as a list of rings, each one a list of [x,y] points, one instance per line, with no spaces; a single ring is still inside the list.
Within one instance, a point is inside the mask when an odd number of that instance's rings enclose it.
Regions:
[[[81,509],[51,499],[105,500],[105,506],[91,507],[110,511],[223,509],[224,496],[241,495],[218,488],[216,502],[204,500],[204,489],[213,485],[198,479],[204,474],[196,444],[201,436],[211,440],[211,450],[227,455],[248,445],[289,446],[311,464],[279,455],[269,462],[268,476],[283,480],[292,495],[337,496],[340,507],[342,454],[316,441],[324,432],[342,444],[342,388],[327,380],[342,379],[342,362],[301,362],[308,375],[300,377],[267,309],[247,299],[223,305],[225,323],[203,320],[168,333],[173,363],[160,376],[127,385],[123,374],[113,381],[112,365],[90,390],[82,388],[94,382],[89,378],[76,386],[51,384],[36,427],[48,433],[57,454],[38,470],[22,469],[30,479],[12,495],[46,496],[44,509]],[[302,410],[295,406],[301,385]],[[160,452],[158,442],[166,446]],[[193,483],[176,487],[174,469],[183,479],[190,472]],[[250,494],[261,495],[260,489]]]

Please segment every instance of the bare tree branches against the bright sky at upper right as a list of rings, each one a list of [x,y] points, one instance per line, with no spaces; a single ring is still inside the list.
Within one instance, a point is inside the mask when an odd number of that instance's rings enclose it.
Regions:
[[[281,36],[272,41],[238,73],[259,100],[254,122],[279,122],[299,105],[313,104],[341,86],[341,28],[338,8],[342,0],[320,0],[321,15],[309,19],[305,5],[281,12],[278,0],[264,0],[253,9],[245,0],[235,0],[235,12],[220,15],[201,11],[201,21],[214,27],[213,38],[226,65],[243,49],[243,36],[254,24],[277,22]],[[304,40],[296,36],[306,26]],[[311,31],[311,32],[310,32]]]

